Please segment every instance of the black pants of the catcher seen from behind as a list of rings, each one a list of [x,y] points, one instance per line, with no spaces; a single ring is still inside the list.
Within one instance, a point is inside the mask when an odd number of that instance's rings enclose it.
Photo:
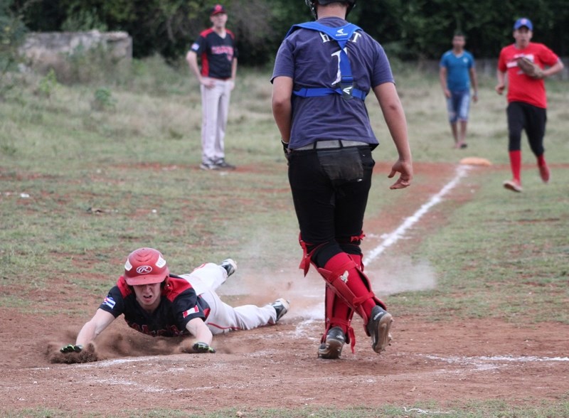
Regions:
[[[318,267],[340,252],[361,254],[359,237],[371,188],[375,161],[369,146],[292,151],[289,183],[300,235],[318,247],[312,261]]]

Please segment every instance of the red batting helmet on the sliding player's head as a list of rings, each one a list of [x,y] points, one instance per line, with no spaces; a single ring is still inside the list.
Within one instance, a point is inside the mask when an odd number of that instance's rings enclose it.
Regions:
[[[124,263],[124,281],[129,286],[164,282],[170,271],[162,254],[154,248],[139,248]]]

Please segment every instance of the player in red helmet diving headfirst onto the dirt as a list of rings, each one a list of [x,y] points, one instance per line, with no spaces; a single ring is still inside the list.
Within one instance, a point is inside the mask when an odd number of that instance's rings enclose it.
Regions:
[[[124,275],[81,328],[75,344],[60,351],[80,353],[121,314],[131,328],[149,336],[193,336],[193,344],[181,343],[186,353],[215,353],[213,334],[277,323],[289,309],[285,299],[236,308],[221,301],[216,289],[235,269],[233,259],[225,259],[219,265],[202,264],[189,274],[176,276],[170,274],[158,250],[134,250],[124,264]]]

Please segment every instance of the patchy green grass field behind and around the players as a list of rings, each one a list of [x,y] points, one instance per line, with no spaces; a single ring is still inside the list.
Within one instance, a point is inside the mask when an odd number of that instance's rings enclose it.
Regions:
[[[167,68],[153,58],[106,84],[65,86],[28,75],[6,92],[0,100],[0,308],[84,314],[85,306],[78,306],[65,287],[61,298],[68,303],[63,306],[50,299],[29,304],[28,299],[66,274],[73,274],[73,286],[85,293],[103,294],[128,252],[147,245],[168,254],[172,270],[223,259],[228,252],[243,264],[296,264],[297,223],[270,112],[270,71],[241,69],[238,78],[226,154],[230,163],[250,169],[227,175],[197,169],[201,105],[186,68]],[[569,86],[547,82],[551,183],[541,185],[524,137],[525,191],[514,194],[501,187],[509,178],[506,100],[494,92],[493,79],[480,81],[469,148],[462,153],[452,149],[435,75],[408,70],[398,77],[416,163],[457,164],[469,155],[504,169],[470,177],[475,197],[449,210],[446,222],[408,254],[412,262],[428,262],[437,287],[390,295],[390,305],[395,315],[422,314],[428,321],[450,316],[568,324]],[[394,161],[378,105],[369,99],[368,107],[382,141],[374,157]],[[416,173],[408,193],[423,181]],[[393,197],[385,195],[387,184],[378,179],[368,215],[393,204]],[[507,400],[506,406],[483,402],[476,407],[457,400],[457,410],[464,413],[456,416],[564,417],[569,415],[567,399],[519,408]],[[406,416],[389,405],[383,412],[346,407],[341,415],[325,409],[290,413],[259,411],[258,416]],[[178,415],[164,410],[145,416]]]

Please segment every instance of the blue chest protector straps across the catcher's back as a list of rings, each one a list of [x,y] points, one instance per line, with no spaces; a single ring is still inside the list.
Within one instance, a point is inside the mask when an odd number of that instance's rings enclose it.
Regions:
[[[364,92],[363,90],[353,87],[353,75],[351,73],[350,60],[346,53],[346,44],[351,39],[353,33],[355,31],[361,31],[361,28],[353,23],[348,23],[347,25],[337,28],[331,28],[318,22],[306,22],[292,26],[285,38],[287,38],[292,32],[296,31],[297,28],[310,29],[312,31],[324,33],[340,45],[339,67],[341,78],[340,82],[336,83],[336,85],[333,85],[332,87],[300,87],[299,89],[293,90],[293,94],[300,97],[341,95],[346,100],[351,100],[353,97],[357,97],[360,100],[366,100],[368,92]]]

